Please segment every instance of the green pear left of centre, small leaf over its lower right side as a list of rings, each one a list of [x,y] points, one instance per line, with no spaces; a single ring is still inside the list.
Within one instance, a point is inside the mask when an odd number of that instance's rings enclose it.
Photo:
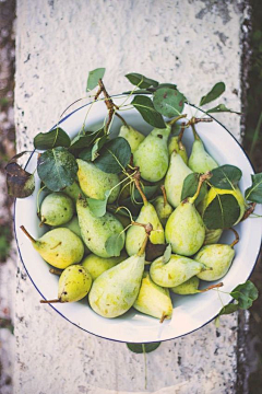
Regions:
[[[85,199],[79,198],[76,202],[76,211],[79,217],[79,224],[84,243],[99,257],[112,257],[106,251],[106,242],[109,236],[120,234],[123,227],[117,218],[106,212],[103,217],[97,218],[93,215]],[[119,235],[124,245],[124,232]]]

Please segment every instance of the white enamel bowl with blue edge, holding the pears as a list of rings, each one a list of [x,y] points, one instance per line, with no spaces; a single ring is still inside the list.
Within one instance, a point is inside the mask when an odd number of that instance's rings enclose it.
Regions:
[[[114,100],[118,104],[123,101],[123,97],[116,96]],[[62,119],[61,127],[71,138],[81,129],[87,108],[87,106],[80,107]],[[192,109],[195,111],[195,108],[186,106],[184,113],[191,114]],[[126,120],[139,130],[148,134],[152,129],[135,109],[122,114]],[[95,130],[97,126],[102,126],[105,116],[106,106],[103,102],[93,105],[88,115],[88,129],[93,128]],[[114,137],[117,136],[120,126],[120,120],[115,118],[111,129]],[[240,189],[243,192],[249,187],[253,169],[236,139],[216,120],[211,124],[199,124],[196,129],[207,151],[221,165],[233,164],[241,169]],[[188,152],[190,152],[192,141],[192,132],[190,130],[184,132],[184,143]],[[36,161],[37,154],[33,154],[26,165],[28,172],[35,170]],[[40,294],[40,300],[57,297],[58,277],[50,275],[50,266],[43,260],[33,248],[31,241],[20,229],[23,224],[34,237],[39,237],[44,232],[39,228],[39,220],[36,216],[36,195],[39,185],[40,181],[36,176],[34,194],[28,198],[16,200],[14,221],[19,253],[33,285]],[[261,207],[258,207],[255,211],[262,215]],[[262,220],[249,218],[237,225],[237,231],[240,235],[240,242],[235,247],[236,257],[228,274],[223,278],[223,291],[227,292],[230,292],[237,285],[245,282],[254,267],[261,244]],[[233,234],[227,231],[222,241],[230,243],[233,237]],[[229,296],[224,293],[221,297],[224,304],[231,300]],[[87,298],[76,303],[53,304],[51,308],[63,318],[91,334],[126,343],[151,343],[180,337],[211,322],[222,308],[216,291],[183,297],[172,294],[172,318],[165,321],[163,324],[159,324],[156,318],[136,312],[134,309],[117,318],[104,318],[91,310]]]

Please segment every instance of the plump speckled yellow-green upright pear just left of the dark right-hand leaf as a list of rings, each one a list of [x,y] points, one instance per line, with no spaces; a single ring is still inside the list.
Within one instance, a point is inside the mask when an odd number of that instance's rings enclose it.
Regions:
[[[165,229],[166,241],[171,244],[174,253],[192,256],[204,243],[205,227],[190,198],[170,215]]]

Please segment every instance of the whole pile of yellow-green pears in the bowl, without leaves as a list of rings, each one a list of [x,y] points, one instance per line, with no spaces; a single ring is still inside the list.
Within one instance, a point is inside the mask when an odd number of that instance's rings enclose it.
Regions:
[[[147,137],[128,125],[120,129],[119,136],[130,144],[133,169],[141,176],[134,184],[142,204],[132,223],[126,216],[109,211],[110,206],[122,206],[130,197],[131,187],[126,187],[130,179],[123,183],[123,174],[105,173],[81,159],[76,160],[79,171],[73,185],[45,196],[38,212],[45,234],[34,239],[22,227],[44,260],[59,269],[58,296],[43,303],[75,302],[88,294],[90,308],[103,317],[118,317],[134,308],[163,322],[172,316],[174,294],[201,293],[206,290],[200,290],[201,280],[217,281],[227,274],[238,237],[230,245],[219,244],[223,230],[207,230],[202,217],[216,194],[234,192],[206,187],[218,163],[194,128],[189,158],[182,143],[184,127],[178,136],[171,136],[171,123],[165,129],[153,129]],[[184,178],[194,172],[204,174],[198,190],[181,200]],[[144,184],[158,185],[150,201],[143,193]],[[205,197],[196,204],[202,187]],[[97,217],[88,199],[102,200],[109,189],[108,211]],[[238,188],[234,196],[240,206],[239,222],[245,199]],[[107,247],[111,236],[120,243],[119,256]],[[148,242],[169,244],[171,253],[148,262]]]

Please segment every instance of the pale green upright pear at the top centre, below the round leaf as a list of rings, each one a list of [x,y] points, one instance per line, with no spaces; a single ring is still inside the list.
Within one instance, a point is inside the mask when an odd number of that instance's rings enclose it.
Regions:
[[[133,162],[140,167],[143,179],[158,182],[166,175],[169,162],[167,140],[170,131],[170,126],[153,129],[135,150]]]

